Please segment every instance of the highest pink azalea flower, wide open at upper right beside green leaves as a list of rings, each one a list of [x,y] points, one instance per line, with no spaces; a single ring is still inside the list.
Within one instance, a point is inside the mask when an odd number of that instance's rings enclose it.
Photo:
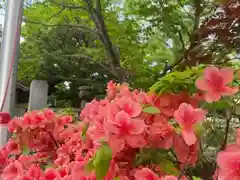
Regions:
[[[233,81],[233,74],[231,68],[208,67],[204,71],[204,77],[196,81],[196,87],[206,92],[207,102],[218,101],[221,96],[232,96],[238,92],[238,88],[228,85]]]

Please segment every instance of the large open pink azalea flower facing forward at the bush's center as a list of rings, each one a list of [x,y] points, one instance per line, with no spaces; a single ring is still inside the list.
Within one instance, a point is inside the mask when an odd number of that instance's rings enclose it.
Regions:
[[[113,151],[121,151],[125,144],[133,148],[141,147],[145,144],[141,135],[146,125],[144,120],[134,118],[124,111],[116,114],[114,121],[106,121],[105,130],[109,133],[109,143]]]

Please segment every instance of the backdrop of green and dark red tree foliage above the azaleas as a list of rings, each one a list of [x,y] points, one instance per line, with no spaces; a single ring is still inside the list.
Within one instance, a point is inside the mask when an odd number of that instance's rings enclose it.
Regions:
[[[147,90],[171,71],[239,60],[239,2],[28,0],[18,77],[45,79],[50,94],[79,105],[109,80]]]

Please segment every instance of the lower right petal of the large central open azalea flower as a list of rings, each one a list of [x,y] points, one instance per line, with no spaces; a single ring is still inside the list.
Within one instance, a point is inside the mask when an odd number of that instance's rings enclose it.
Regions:
[[[142,135],[126,136],[125,140],[127,141],[127,144],[132,148],[141,148],[146,145],[146,141]]]

